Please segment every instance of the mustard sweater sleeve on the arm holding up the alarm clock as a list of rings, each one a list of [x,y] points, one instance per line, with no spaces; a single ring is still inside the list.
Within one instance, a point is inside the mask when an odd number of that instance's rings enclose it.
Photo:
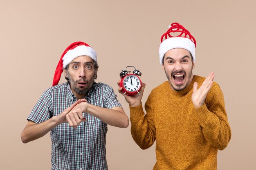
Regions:
[[[156,139],[154,114],[151,108],[151,97],[149,95],[145,104],[146,115],[142,104],[136,107],[130,106],[130,121],[132,138],[141,149],[152,146]]]

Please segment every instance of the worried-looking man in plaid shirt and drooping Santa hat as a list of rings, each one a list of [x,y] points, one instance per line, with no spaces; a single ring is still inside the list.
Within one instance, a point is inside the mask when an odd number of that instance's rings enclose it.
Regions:
[[[58,84],[63,70],[67,83]],[[96,52],[88,44],[70,44],[58,63],[53,86],[27,118],[22,142],[51,131],[52,170],[107,170],[107,124],[128,127],[113,89],[94,82],[97,70]]]

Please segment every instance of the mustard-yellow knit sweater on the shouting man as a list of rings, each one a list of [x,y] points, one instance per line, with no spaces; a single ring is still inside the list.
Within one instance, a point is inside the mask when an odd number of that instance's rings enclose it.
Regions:
[[[194,76],[183,91],[171,89],[168,81],[154,88],[145,104],[130,106],[131,133],[141,149],[156,140],[157,162],[153,170],[216,170],[217,152],[229,143],[222,91],[213,83],[204,105],[195,109],[191,101],[193,83],[198,88],[204,77]]]

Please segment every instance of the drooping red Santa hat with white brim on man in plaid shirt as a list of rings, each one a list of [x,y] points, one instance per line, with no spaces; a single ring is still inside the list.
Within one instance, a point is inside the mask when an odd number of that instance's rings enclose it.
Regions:
[[[58,84],[58,82],[61,79],[61,73],[63,72],[63,68],[66,68],[72,60],[74,60],[76,57],[86,55],[88,57],[91,57],[92,60],[97,62],[97,54],[92,47],[90,47],[88,44],[84,42],[73,42],[70,44],[70,46],[65,49],[63,54],[61,55],[60,61],[58,62],[58,65],[56,67],[52,86],[55,86]]]

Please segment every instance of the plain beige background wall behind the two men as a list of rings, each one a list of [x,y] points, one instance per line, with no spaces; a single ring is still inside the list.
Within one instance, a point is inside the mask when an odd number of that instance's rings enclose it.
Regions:
[[[166,81],[158,59],[160,37],[168,24],[179,22],[197,40],[194,74],[214,71],[225,96],[232,137],[218,152],[218,169],[256,170],[255,7],[254,0],[0,0],[0,169],[50,169],[49,133],[28,144],[20,133],[70,43],[84,41],[97,51],[97,82],[116,93],[121,70],[139,69],[145,103]],[[155,164],[155,145],[141,150],[130,126],[108,126],[106,147],[110,170],[150,170]]]

